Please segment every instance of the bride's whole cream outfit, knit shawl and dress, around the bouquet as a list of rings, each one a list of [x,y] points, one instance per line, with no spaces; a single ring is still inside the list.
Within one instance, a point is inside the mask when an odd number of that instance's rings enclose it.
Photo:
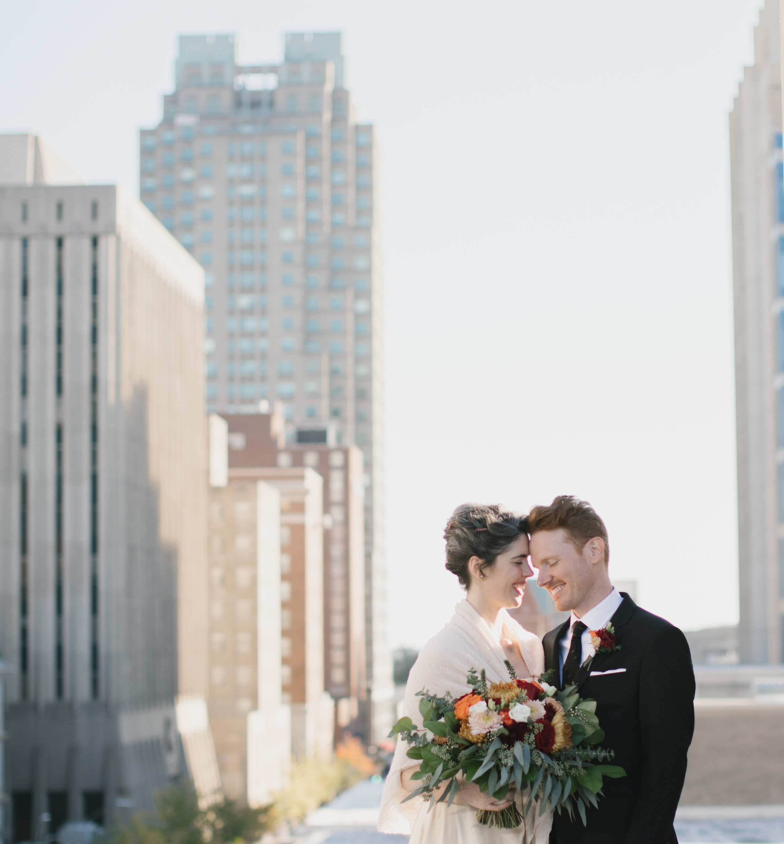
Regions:
[[[503,636],[516,641],[532,676],[544,670],[544,652],[537,636],[517,624],[508,614]],[[419,657],[406,684],[403,716],[408,716],[420,728],[419,701],[416,693],[421,690],[443,695],[447,691],[455,697],[464,695],[471,688],[466,683],[469,668],[477,672],[484,668],[491,683],[506,681],[509,672],[506,656],[500,643],[493,637],[489,625],[470,603],[462,600],[455,607],[451,621],[440,630],[419,652]],[[425,803],[415,797],[403,803],[408,792],[400,778],[403,771],[419,767],[417,760],[406,755],[408,744],[398,740],[392,766],[381,798],[378,828],[381,832],[410,835],[409,844],[548,844],[552,812],[548,809],[539,816],[533,806],[524,822],[512,830],[489,827],[476,820],[476,809],[462,803]],[[527,800],[527,796],[526,796]],[[522,814],[522,794],[516,795],[517,808]]]

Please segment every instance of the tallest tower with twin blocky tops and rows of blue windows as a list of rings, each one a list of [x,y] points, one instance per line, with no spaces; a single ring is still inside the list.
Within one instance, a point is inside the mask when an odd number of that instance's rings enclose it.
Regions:
[[[377,149],[342,36],[290,33],[283,62],[253,65],[237,62],[232,35],[181,37],[176,89],[140,143],[143,202],[206,271],[208,409],[280,400],[287,441],[362,450],[368,738],[379,740],[393,687]]]

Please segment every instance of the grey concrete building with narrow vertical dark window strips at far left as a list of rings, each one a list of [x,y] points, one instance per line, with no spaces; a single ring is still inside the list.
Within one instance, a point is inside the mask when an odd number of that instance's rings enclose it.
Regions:
[[[205,701],[203,270],[120,188],[41,183],[40,150],[0,138],[14,841],[151,808],[185,774],[203,801],[220,792]]]

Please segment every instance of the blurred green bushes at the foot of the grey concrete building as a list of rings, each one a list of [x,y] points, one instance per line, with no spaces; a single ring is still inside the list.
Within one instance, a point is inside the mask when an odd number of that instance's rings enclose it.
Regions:
[[[269,806],[251,809],[224,799],[200,809],[190,782],[164,788],[154,800],[154,813],[137,812],[129,824],[117,825],[112,844],[244,844],[271,828]]]

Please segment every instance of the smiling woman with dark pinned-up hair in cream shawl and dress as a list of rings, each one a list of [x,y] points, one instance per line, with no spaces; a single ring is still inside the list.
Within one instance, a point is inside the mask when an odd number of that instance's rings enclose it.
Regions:
[[[519,607],[528,577],[527,519],[498,505],[463,504],[452,513],[444,531],[446,568],[457,575],[468,594],[457,604],[451,621],[419,652],[408,675],[403,716],[421,726],[416,693],[428,690],[459,697],[470,691],[466,674],[482,668],[491,682],[506,681],[509,660],[520,678],[544,670],[542,644],[506,612]],[[477,809],[500,812],[516,800],[523,814],[522,793],[512,790],[502,801],[463,781],[451,806],[432,806],[419,797],[403,803],[419,785],[411,776],[419,768],[408,759],[408,744],[397,742],[392,767],[381,799],[381,832],[410,834],[409,844],[547,844],[552,825],[548,809],[538,815],[535,805],[516,829],[489,827],[476,819]],[[527,799],[527,794],[525,799]],[[429,811],[430,809],[430,811]]]

